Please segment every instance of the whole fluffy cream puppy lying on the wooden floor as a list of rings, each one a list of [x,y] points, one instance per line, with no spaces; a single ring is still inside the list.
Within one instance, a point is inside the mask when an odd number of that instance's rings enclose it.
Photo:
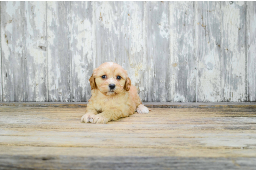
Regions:
[[[101,64],[93,70],[89,79],[92,96],[81,122],[107,123],[132,115],[135,111],[148,114],[149,109],[141,104],[135,86],[120,65],[113,62]]]

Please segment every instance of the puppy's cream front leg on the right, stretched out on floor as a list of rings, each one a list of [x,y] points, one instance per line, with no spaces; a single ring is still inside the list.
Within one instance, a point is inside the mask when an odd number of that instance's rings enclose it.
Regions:
[[[102,113],[94,116],[93,123],[107,123],[108,121],[117,120],[127,116],[129,115],[124,114],[120,110],[105,110]]]

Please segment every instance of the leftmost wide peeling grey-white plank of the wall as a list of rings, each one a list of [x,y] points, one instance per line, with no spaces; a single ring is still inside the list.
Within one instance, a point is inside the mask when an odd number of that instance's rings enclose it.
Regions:
[[[3,101],[26,101],[24,1],[1,1]]]

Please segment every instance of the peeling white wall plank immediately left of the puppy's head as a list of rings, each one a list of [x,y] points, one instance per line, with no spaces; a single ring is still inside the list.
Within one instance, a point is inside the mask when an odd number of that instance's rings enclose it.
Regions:
[[[72,102],[88,102],[89,78],[94,65],[94,25],[92,1],[71,1]]]

